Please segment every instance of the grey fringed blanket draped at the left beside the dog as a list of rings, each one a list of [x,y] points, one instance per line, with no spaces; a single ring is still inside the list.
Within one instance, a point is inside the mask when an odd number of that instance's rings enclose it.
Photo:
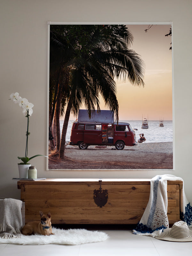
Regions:
[[[21,235],[22,216],[21,216],[22,201],[5,198],[0,199],[0,237],[11,238]]]

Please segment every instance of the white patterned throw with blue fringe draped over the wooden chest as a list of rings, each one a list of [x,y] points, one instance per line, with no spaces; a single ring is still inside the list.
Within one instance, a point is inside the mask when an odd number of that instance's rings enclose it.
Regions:
[[[157,175],[150,181],[150,196],[147,207],[133,234],[159,236],[164,228],[169,228],[167,218],[167,180],[182,180],[171,174]],[[183,180],[182,180],[183,181]],[[180,189],[180,219],[192,227],[192,206],[183,188]]]

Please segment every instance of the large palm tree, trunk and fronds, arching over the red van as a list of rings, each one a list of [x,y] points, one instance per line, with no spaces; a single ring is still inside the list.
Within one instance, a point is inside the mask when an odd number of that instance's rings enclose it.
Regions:
[[[53,42],[60,47],[63,56],[63,65],[70,68],[60,158],[64,158],[71,112],[77,115],[84,103],[91,116],[95,106],[100,111],[101,96],[118,121],[114,78],[127,77],[132,84],[144,86],[144,63],[136,52],[129,49],[132,40],[131,33],[124,25],[66,25],[63,33],[59,31],[59,36],[54,37]]]

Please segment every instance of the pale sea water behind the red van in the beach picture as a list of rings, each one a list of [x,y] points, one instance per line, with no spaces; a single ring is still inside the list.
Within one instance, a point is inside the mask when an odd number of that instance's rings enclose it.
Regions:
[[[68,122],[68,129],[67,129],[67,135],[66,135],[66,141],[70,141],[71,136],[71,128],[72,123],[75,120],[69,120]],[[63,127],[63,120],[60,120],[60,130],[62,132]],[[119,122],[126,122],[131,124],[132,128],[137,128],[138,130],[135,131],[136,134],[136,140],[140,138],[139,134],[144,133],[144,137],[146,138],[146,143],[148,142],[167,142],[167,141],[173,141],[173,127],[172,127],[172,121],[164,121],[164,127],[159,127],[159,121],[148,121],[148,129],[141,129],[142,121],[128,121],[128,120],[121,120]]]

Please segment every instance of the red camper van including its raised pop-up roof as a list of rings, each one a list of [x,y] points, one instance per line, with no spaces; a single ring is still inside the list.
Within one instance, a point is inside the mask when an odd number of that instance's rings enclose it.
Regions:
[[[124,146],[137,145],[135,132],[129,123],[113,122],[113,112],[101,110],[92,113],[89,119],[87,111],[79,110],[78,121],[71,129],[70,145],[78,145],[80,149],[87,149],[89,145]]]

